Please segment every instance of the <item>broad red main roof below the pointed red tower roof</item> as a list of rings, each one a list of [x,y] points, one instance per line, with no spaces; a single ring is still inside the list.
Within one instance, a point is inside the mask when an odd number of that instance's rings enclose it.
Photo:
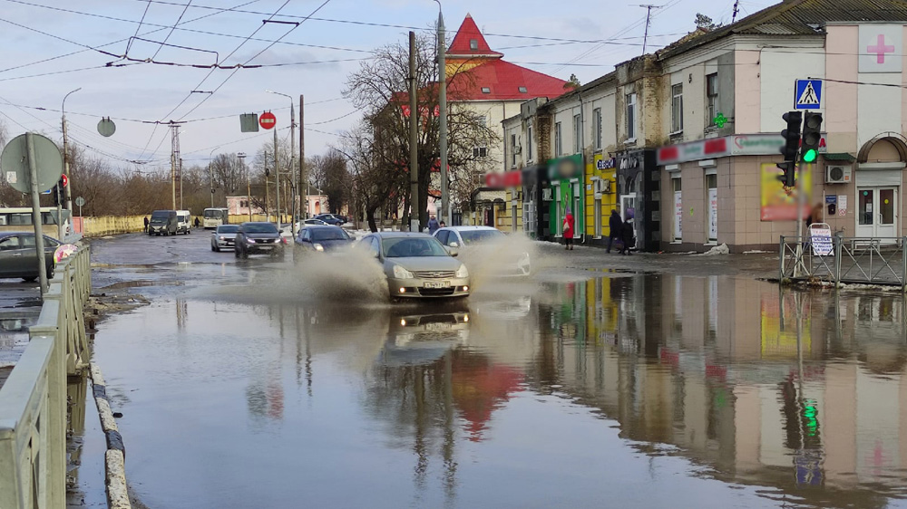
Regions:
[[[565,92],[564,83],[515,63],[492,60],[480,63],[468,72],[454,74],[447,83],[447,90],[452,101],[529,101],[536,97],[553,99],[561,96]]]

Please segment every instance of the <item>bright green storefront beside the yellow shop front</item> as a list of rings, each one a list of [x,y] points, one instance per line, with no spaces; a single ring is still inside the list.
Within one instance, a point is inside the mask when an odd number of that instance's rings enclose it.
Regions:
[[[559,240],[563,234],[566,209],[573,213],[574,238],[581,238],[586,231],[585,190],[583,189],[582,155],[548,161],[548,177],[551,180],[551,201],[549,202],[549,231],[551,240]]]

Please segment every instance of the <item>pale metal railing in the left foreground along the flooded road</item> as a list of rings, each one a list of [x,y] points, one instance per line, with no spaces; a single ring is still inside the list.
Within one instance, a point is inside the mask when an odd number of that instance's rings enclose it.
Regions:
[[[66,505],[66,376],[87,364],[89,249],[57,264],[29,343],[0,388],[0,507]]]

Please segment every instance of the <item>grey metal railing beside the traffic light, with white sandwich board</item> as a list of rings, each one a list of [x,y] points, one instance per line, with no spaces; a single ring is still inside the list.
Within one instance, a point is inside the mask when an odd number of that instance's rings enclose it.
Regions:
[[[831,237],[831,252],[811,237],[781,236],[778,278],[784,281],[900,286],[907,292],[907,237]],[[827,247],[826,247],[827,249]]]

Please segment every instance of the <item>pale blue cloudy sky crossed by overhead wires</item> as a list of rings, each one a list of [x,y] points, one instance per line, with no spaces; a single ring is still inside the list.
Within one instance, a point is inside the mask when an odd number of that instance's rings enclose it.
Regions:
[[[649,3],[661,7],[651,12],[648,52],[692,31],[697,13],[730,23],[735,4]],[[776,3],[738,1],[737,19]],[[506,60],[563,80],[590,82],[642,53],[647,10],[639,4],[442,5],[447,43],[472,14]],[[241,113],[272,111],[280,142],[288,140],[291,100],[270,90],[294,98],[297,118],[305,95],[306,155],[323,154],[362,116],[343,97],[346,77],[375,48],[405,43],[409,30],[434,31],[437,15],[433,0],[0,0],[0,122],[10,137],[31,130],[60,141],[63,98],[81,88],[65,101],[71,142],[123,168],[169,171],[170,128],[154,122],[185,122],[187,167],[212,154],[254,154],[273,139],[271,131],[240,132]],[[215,62],[264,66],[210,69]],[[116,125],[109,138],[97,130],[103,117]]]

